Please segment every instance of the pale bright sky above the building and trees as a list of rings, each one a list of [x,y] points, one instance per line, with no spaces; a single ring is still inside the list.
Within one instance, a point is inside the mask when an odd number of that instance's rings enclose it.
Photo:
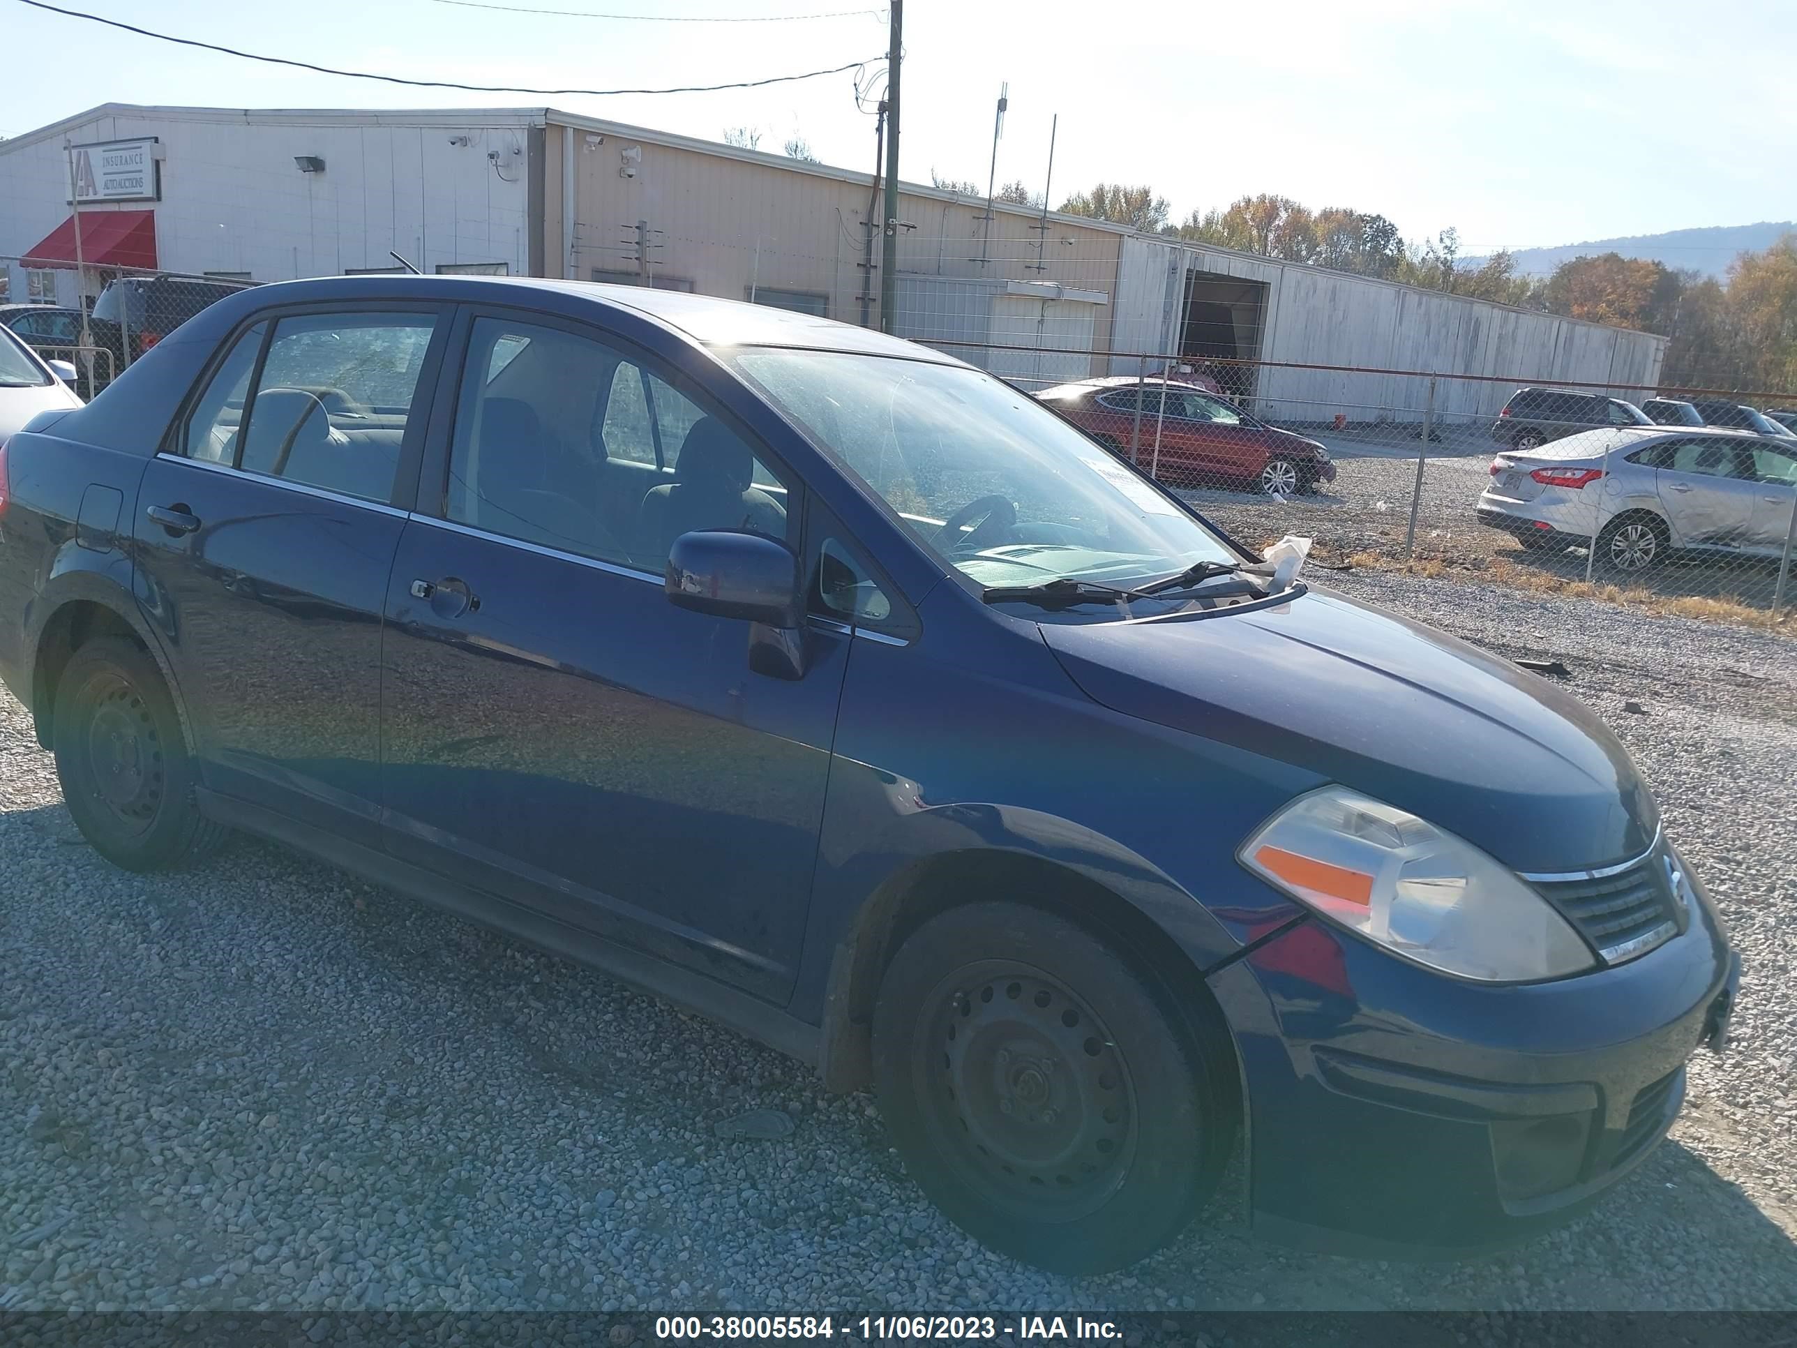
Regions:
[[[56,0],[203,41],[349,70],[532,88],[712,84],[868,61],[866,0],[505,0],[735,23],[501,13],[442,0]],[[501,0],[492,0],[501,4]],[[0,0],[0,135],[99,102],[234,108],[555,106],[762,149],[803,137],[866,171],[854,75],[758,90],[534,97],[419,90],[171,47]],[[907,0],[900,178],[985,185],[999,84],[999,182],[1051,196],[1150,183],[1181,219],[1253,192],[1389,216],[1461,252],[1797,219],[1792,0],[1276,0],[1100,5]],[[29,59],[27,56],[29,54]],[[1783,54],[1783,56],[1781,56]]]

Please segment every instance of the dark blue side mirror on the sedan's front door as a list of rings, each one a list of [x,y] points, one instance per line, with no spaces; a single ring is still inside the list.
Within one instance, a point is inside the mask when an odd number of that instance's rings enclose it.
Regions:
[[[726,528],[681,534],[668,548],[661,590],[676,607],[748,620],[757,674],[805,678],[798,557],[785,543]]]

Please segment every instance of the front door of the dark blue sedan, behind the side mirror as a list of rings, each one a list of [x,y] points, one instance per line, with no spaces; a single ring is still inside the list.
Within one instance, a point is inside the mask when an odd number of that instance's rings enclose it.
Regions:
[[[471,311],[460,347],[386,595],[386,847],[783,1001],[848,638],[767,678],[661,577],[690,528],[794,534],[798,483],[600,329]]]

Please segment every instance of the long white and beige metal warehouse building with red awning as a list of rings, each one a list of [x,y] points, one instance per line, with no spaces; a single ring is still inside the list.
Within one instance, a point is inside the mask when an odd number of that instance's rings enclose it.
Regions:
[[[870,147],[872,149],[872,147]],[[552,108],[354,111],[106,104],[0,142],[9,298],[72,302],[106,268],[252,280],[496,271],[654,284],[879,322],[866,173]],[[1261,361],[1242,392],[1292,419],[1416,412],[1423,370],[1651,386],[1666,340],[904,183],[895,331],[1026,385],[1134,374],[1139,354]],[[108,219],[119,216],[119,219]],[[1150,367],[1152,368],[1152,367]],[[1441,413],[1511,383],[1445,381]]]

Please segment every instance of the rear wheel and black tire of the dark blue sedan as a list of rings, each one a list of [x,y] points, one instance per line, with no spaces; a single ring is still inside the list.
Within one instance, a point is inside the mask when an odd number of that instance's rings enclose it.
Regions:
[[[68,812],[115,866],[173,870],[225,841],[194,802],[199,776],[162,672],[131,642],[101,636],[68,658],[52,741]]]

